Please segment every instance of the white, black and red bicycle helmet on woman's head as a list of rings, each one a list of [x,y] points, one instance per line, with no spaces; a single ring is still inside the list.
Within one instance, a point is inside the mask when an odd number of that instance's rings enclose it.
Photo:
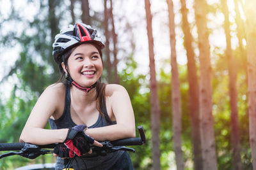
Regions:
[[[60,64],[62,62],[61,55],[63,55],[63,53],[83,42],[95,43],[100,50],[105,46],[102,39],[97,34],[97,30],[93,29],[90,25],[77,23],[75,25],[69,25],[68,28],[61,29],[60,34],[55,36],[55,41],[52,44],[54,60]]]

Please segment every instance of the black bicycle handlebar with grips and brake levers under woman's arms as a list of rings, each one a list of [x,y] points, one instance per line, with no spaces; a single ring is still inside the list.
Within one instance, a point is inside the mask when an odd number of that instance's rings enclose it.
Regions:
[[[104,156],[108,153],[116,152],[117,150],[135,152],[134,148],[128,148],[126,146],[144,145],[146,143],[146,137],[142,125],[138,126],[138,131],[140,134],[139,138],[125,138],[118,139],[116,141],[101,141],[100,143],[102,143],[102,147],[92,146],[92,153],[88,153],[84,155],[84,157],[95,157],[97,155]],[[36,157],[39,157],[40,155],[53,153],[53,150],[49,149],[54,148],[56,145],[58,145],[58,143],[50,145],[33,145],[31,143],[0,143],[0,152],[17,151],[3,153],[0,155],[0,159],[12,155],[20,155],[28,159],[36,159]]]

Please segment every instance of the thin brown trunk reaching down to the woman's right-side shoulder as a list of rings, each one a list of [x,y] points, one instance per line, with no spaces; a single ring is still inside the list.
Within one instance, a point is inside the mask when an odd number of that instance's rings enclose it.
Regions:
[[[114,67],[114,82],[119,83],[119,77],[118,77],[118,72],[117,72],[117,64],[118,64],[118,59],[117,59],[117,49],[116,49],[116,43],[117,43],[117,35],[115,31],[115,22],[114,22],[114,17],[113,17],[113,4],[112,0],[110,0],[110,9],[109,9],[109,15],[111,18],[111,25],[112,25],[112,38],[113,38],[113,57],[114,57],[114,62],[113,62],[113,67]]]

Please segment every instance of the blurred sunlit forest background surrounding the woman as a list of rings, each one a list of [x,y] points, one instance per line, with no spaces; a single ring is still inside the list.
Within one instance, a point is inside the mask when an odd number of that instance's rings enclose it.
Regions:
[[[0,143],[19,142],[36,100],[58,80],[54,36],[84,22],[106,41],[103,80],[127,89],[145,129],[147,145],[130,154],[135,169],[256,169],[252,1],[0,3]],[[13,156],[0,169],[55,160]]]

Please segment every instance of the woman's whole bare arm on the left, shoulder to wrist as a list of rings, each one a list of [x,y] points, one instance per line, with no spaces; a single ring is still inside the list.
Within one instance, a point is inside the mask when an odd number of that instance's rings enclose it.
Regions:
[[[62,143],[65,140],[68,129],[44,129],[49,118],[54,113],[60,111],[58,108],[60,108],[59,106],[62,101],[61,97],[63,97],[63,85],[61,83],[51,85],[44,90],[29,115],[20,135],[20,142],[47,145]]]

